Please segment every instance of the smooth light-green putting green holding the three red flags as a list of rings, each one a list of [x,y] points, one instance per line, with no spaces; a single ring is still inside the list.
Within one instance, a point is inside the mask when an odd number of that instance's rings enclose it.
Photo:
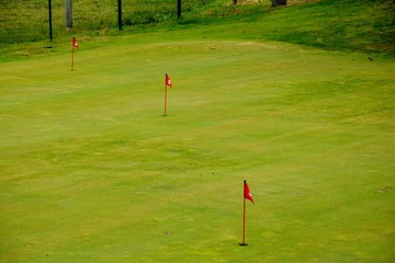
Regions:
[[[394,65],[221,38],[0,64],[0,262],[393,262]]]

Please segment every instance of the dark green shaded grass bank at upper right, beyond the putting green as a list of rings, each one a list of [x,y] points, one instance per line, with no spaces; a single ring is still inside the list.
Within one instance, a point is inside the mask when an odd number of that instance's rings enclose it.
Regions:
[[[223,23],[230,22],[240,28],[238,34],[241,37],[394,56],[393,1],[323,0],[279,9],[264,3],[252,7],[212,5],[185,15],[180,23],[215,24],[222,18]]]

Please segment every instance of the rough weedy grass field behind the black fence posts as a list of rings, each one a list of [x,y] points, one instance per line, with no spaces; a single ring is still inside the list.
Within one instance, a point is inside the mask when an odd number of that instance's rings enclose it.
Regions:
[[[189,0],[183,11],[213,0]],[[108,34],[117,28],[117,1],[72,1],[72,28],[66,31],[65,1],[52,0],[54,37],[94,32]],[[177,2],[172,0],[123,0],[125,26],[153,25],[177,19]],[[48,1],[0,1],[0,42],[21,43],[49,39]]]

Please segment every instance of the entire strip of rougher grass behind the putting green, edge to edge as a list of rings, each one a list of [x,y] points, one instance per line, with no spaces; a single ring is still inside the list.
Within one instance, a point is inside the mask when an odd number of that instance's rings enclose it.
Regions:
[[[160,2],[160,3],[159,3]],[[321,0],[289,1],[289,7],[271,8],[270,1],[246,4],[228,0],[185,1],[183,15],[177,19],[173,1],[123,1],[124,31],[116,30],[115,1],[77,1],[75,27],[64,28],[63,1],[54,1],[55,43],[74,35],[108,37],[136,32],[206,28],[222,37],[264,42],[281,41],[327,50],[361,52],[394,57],[394,1]],[[48,38],[46,5],[37,1],[1,2],[0,39],[2,54],[46,53]],[[32,15],[34,12],[34,15]],[[40,42],[27,44],[26,42]],[[23,44],[15,45],[14,43]],[[43,43],[43,44],[41,44]],[[36,45],[40,45],[36,48]],[[43,50],[44,49],[44,50]],[[50,49],[48,53],[54,53]],[[9,56],[9,55],[5,55]],[[11,55],[12,57],[12,55]]]

